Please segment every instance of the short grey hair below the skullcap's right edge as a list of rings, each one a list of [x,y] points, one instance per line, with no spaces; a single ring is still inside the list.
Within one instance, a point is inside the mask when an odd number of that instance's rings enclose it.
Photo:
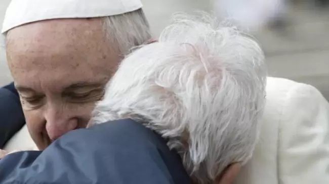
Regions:
[[[149,23],[142,9],[104,17],[104,31],[110,43],[116,43],[123,54],[151,39]]]

